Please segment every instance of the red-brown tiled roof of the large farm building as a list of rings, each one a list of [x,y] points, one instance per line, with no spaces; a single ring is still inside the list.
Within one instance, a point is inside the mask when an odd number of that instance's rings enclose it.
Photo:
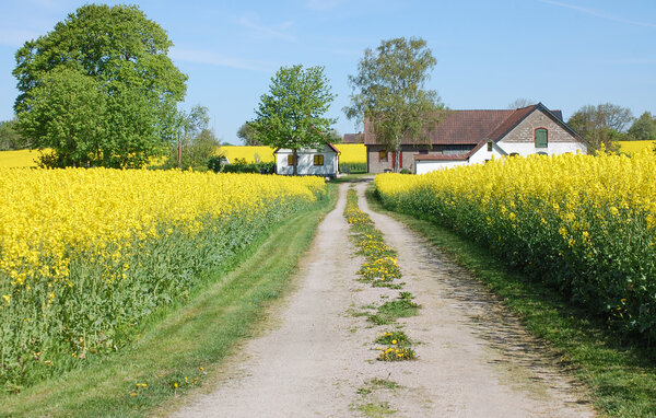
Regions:
[[[551,114],[557,121],[562,121],[561,111],[549,111],[544,105],[522,107],[518,109],[490,111],[448,111],[444,119],[427,136],[432,144],[479,144],[485,139],[499,141],[530,113],[540,108]],[[403,138],[401,144],[413,144],[412,140]],[[376,137],[370,120],[364,121],[364,144],[376,144]]]

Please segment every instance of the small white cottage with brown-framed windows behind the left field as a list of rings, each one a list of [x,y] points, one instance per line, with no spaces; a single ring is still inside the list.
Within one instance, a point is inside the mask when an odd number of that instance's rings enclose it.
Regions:
[[[280,175],[294,174],[294,155],[292,150],[279,148],[273,151],[276,156],[276,173]],[[318,175],[335,177],[339,169],[339,150],[331,143],[326,143],[318,150],[301,149],[298,158],[298,175]]]

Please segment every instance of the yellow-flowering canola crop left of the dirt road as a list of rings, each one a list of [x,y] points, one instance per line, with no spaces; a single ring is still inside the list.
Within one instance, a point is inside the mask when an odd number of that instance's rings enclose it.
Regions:
[[[0,381],[14,387],[117,349],[200,272],[315,205],[325,183],[0,169]]]

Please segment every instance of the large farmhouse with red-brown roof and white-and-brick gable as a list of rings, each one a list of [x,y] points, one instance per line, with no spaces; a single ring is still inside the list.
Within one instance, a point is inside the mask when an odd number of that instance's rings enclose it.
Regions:
[[[395,153],[376,142],[364,121],[370,173],[395,170]],[[585,140],[563,121],[561,111],[541,103],[518,109],[449,111],[423,141],[401,140],[399,169],[423,174],[438,169],[482,163],[504,155],[586,152]]]

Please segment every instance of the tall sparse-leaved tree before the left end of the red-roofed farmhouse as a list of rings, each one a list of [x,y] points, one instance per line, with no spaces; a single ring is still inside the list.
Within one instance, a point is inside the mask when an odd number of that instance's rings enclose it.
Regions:
[[[421,38],[383,40],[376,50],[365,49],[358,74],[349,76],[353,90],[350,119],[370,120],[376,141],[395,151],[399,167],[401,141],[427,142],[427,129],[444,116],[444,105],[433,90],[426,90],[436,60]]]

